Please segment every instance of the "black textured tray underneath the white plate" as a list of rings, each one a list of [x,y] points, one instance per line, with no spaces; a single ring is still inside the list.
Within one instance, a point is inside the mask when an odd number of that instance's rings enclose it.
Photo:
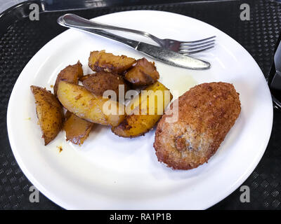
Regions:
[[[56,24],[56,19],[63,13],[95,18],[117,11],[145,9],[197,18],[238,41],[254,57],[264,76],[268,76],[281,30],[281,3],[277,1],[122,1],[111,5],[108,4],[110,1],[106,2],[106,6],[93,5],[93,8],[63,11],[63,8],[46,5],[51,10],[42,10],[39,21],[31,21],[27,16],[30,12],[28,6],[32,2],[23,3],[17,9],[6,10],[0,15],[0,209],[62,209],[42,194],[38,203],[30,202],[32,183],[22,173],[11,151],[6,111],[13,85],[27,62],[51,38],[65,31],[65,28]],[[240,20],[242,3],[250,6],[249,21]],[[280,135],[281,112],[274,110],[273,130],[266,153],[242,184],[249,186],[250,202],[240,202],[241,192],[238,188],[210,209],[281,209]]]

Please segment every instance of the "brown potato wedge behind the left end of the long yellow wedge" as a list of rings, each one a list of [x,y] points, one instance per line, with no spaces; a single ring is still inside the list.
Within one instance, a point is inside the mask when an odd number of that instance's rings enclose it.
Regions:
[[[83,76],[82,64],[78,61],[77,64],[69,65],[65,67],[60,73],[58,73],[58,77],[55,80],[55,85],[53,87],[53,92],[55,96],[58,91],[58,83],[60,80],[65,80],[69,83],[78,84],[79,78]]]

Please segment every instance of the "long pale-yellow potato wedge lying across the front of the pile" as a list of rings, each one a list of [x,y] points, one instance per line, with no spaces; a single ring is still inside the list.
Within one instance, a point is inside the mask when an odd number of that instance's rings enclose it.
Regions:
[[[111,99],[92,94],[84,86],[62,80],[58,83],[57,94],[65,109],[91,123],[117,126],[124,119],[122,106]]]

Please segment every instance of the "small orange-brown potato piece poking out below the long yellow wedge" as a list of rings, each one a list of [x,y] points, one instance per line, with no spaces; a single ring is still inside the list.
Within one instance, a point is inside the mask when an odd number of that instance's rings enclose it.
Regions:
[[[74,113],[67,111],[65,114],[65,125],[63,129],[66,134],[66,141],[71,141],[73,144],[81,145],[89,136],[93,123],[77,117]]]

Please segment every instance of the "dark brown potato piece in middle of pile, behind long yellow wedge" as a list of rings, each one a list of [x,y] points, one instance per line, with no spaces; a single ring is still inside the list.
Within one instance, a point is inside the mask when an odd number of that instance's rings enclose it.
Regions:
[[[98,96],[103,96],[106,90],[113,90],[117,95],[116,100],[119,97],[119,85],[124,85],[125,93],[128,90],[128,86],[122,76],[119,76],[117,73],[108,73],[105,71],[91,74],[89,78],[83,81],[83,85],[87,90]]]

